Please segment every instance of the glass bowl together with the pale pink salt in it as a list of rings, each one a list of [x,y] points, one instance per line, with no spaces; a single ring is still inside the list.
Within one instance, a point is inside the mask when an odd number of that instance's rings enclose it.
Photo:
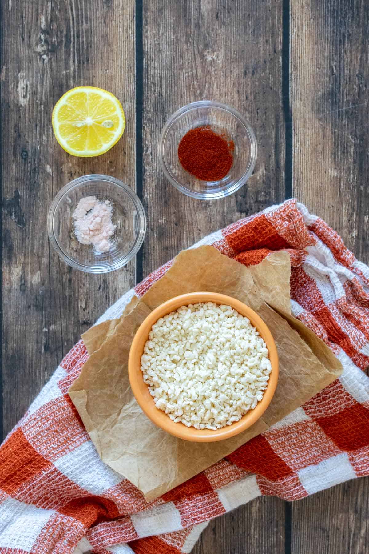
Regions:
[[[141,248],[146,216],[136,193],[115,177],[85,175],[66,184],[50,206],[50,243],[72,268],[108,273]]]

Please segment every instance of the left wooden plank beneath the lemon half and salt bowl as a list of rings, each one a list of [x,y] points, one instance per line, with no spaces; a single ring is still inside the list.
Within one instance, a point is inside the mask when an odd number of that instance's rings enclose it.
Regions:
[[[134,262],[103,276],[71,270],[46,232],[49,205],[72,178],[105,173],[135,187],[134,4],[9,0],[1,37],[6,434],[81,332],[134,284]],[[112,91],[126,110],[123,138],[104,156],[72,157],[54,139],[53,106],[77,85]]]

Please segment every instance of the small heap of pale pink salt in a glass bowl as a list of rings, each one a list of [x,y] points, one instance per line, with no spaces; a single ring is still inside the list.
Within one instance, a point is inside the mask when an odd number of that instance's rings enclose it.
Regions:
[[[93,244],[95,252],[108,252],[116,225],[112,222],[113,207],[96,196],[81,198],[73,213],[75,234],[81,244]]]

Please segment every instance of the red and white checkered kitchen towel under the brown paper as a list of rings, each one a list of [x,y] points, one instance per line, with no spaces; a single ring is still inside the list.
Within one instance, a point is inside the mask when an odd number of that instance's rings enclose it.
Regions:
[[[246,265],[288,250],[292,312],[323,338],[344,373],[266,433],[148,504],[102,463],[67,395],[87,359],[80,341],[0,448],[0,553],[190,552],[207,521],[256,496],[297,500],[369,474],[369,268],[294,200],[200,244]],[[169,266],[102,319],[121,314]]]

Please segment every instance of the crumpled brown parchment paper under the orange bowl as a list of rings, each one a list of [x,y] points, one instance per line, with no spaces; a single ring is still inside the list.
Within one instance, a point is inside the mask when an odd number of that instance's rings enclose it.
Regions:
[[[121,318],[82,338],[90,354],[69,394],[101,459],[132,481],[147,500],[164,494],[266,431],[340,375],[328,347],[290,315],[288,253],[246,268],[210,246],[181,252],[167,273]],[[155,307],[173,296],[212,291],[236,297],[266,321],[276,341],[279,381],[263,417],[243,433],[216,443],[189,443],[157,428],[131,392],[128,353],[134,334]]]

